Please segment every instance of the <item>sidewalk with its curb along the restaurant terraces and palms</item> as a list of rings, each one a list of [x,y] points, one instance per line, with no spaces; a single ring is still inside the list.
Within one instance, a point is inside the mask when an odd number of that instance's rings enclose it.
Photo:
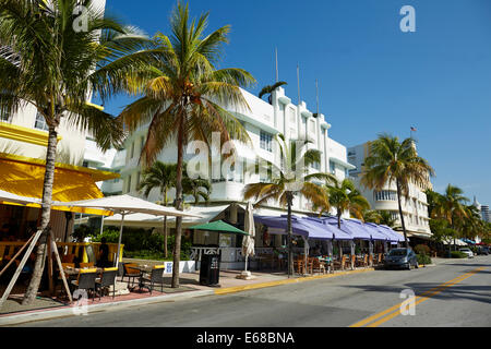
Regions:
[[[171,277],[166,278],[166,282],[169,287],[164,288],[164,293],[153,291],[151,296],[147,290],[142,293],[131,292],[127,296],[118,296],[115,299],[112,297],[103,297],[101,300],[96,297],[95,301],[92,299],[87,302],[86,311],[88,313],[94,311],[101,311],[108,309],[115,309],[117,306],[129,305],[143,305],[157,302],[173,302],[185,300],[195,297],[214,296],[214,294],[228,294],[233,292],[241,292],[244,290],[274,287],[280,285],[288,285],[294,282],[304,282],[321,278],[331,278],[342,275],[350,275],[358,273],[372,272],[373,268],[361,268],[355,270],[336,272],[334,274],[313,275],[313,276],[296,276],[288,278],[285,273],[260,273],[253,272],[254,279],[243,280],[237,279],[240,270],[221,270],[220,272],[220,285],[219,287],[206,287],[200,285],[199,272],[192,274],[180,275],[180,288],[170,288]],[[50,298],[37,298],[34,304],[29,306],[21,305],[22,294],[13,294],[3,304],[0,311],[0,326],[15,325],[26,322],[34,322],[40,320],[73,316],[76,315],[80,308],[76,304],[63,304],[57,300]]]

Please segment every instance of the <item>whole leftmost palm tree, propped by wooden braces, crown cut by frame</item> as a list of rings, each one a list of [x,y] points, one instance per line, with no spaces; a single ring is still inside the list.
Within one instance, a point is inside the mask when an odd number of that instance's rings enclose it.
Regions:
[[[73,14],[79,5],[88,10],[82,31],[75,31],[80,19]],[[24,304],[36,298],[45,264],[58,128],[65,121],[88,131],[103,149],[120,145],[121,124],[87,98],[94,92],[104,101],[121,91],[145,44],[144,36],[104,16],[92,0],[0,1],[0,113],[31,105],[48,125],[43,232]]]

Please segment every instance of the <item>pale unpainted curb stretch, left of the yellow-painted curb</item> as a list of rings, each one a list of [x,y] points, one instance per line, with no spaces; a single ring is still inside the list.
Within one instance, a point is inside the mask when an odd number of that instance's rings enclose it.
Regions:
[[[142,298],[134,299],[128,301],[119,301],[112,303],[104,303],[104,304],[91,304],[87,305],[87,313],[98,312],[103,310],[113,309],[118,306],[131,306],[131,305],[146,305],[153,303],[163,303],[163,302],[173,302],[179,300],[185,300],[190,298],[203,297],[203,296],[213,296],[213,290],[204,290],[204,291],[190,291],[179,294],[166,294],[158,296],[154,298]],[[22,313],[19,315],[0,315],[0,326],[10,326],[10,325],[19,325],[24,323],[31,323],[43,320],[52,320],[58,317],[68,317],[68,316],[76,316],[73,312],[74,308],[63,308],[51,311],[33,311],[28,313]]]

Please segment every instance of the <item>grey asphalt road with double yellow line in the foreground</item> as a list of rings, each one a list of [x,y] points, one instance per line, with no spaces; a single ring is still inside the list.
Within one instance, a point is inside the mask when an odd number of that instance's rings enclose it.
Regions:
[[[403,299],[411,290],[415,298]],[[412,300],[414,314],[399,304]],[[22,326],[491,327],[491,256],[376,270],[228,296],[115,309]]]

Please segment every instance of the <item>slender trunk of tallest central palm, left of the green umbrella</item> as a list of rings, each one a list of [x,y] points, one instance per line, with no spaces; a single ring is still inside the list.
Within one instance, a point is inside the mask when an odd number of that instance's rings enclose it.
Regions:
[[[178,163],[176,176],[176,209],[182,210],[182,163],[184,157],[184,119],[181,118],[178,133]],[[181,261],[182,217],[176,217],[176,241],[173,245],[172,288],[179,288],[179,264]]]

